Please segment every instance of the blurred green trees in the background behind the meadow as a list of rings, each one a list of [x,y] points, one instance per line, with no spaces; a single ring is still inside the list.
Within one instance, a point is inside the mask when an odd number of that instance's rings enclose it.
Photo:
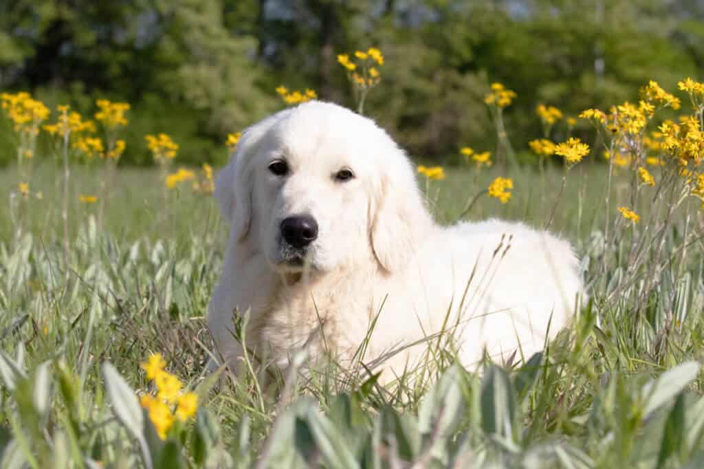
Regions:
[[[541,136],[538,103],[575,116],[634,100],[650,79],[674,91],[704,67],[695,0],[1,4],[0,89],[87,113],[103,96],[130,102],[128,163],[146,161],[142,135],[158,131],[180,141],[187,161],[224,158],[228,133],[283,108],[282,84],[352,106],[337,54],[370,46],[386,63],[367,115],[413,155],[439,160],[496,144],[483,103],[491,82],[517,92],[505,118],[513,145],[526,148]]]

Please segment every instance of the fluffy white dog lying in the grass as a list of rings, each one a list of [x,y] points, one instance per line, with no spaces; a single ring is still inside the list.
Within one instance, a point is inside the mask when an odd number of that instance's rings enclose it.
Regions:
[[[235,311],[250,311],[246,347],[269,364],[287,366],[300,347],[349,363],[365,344],[363,362],[388,382],[439,333],[466,366],[485,351],[527,359],[582,294],[564,240],[498,220],[435,224],[403,151],[338,105],[246,129],[215,196],[232,224],[208,327],[235,368]]]

